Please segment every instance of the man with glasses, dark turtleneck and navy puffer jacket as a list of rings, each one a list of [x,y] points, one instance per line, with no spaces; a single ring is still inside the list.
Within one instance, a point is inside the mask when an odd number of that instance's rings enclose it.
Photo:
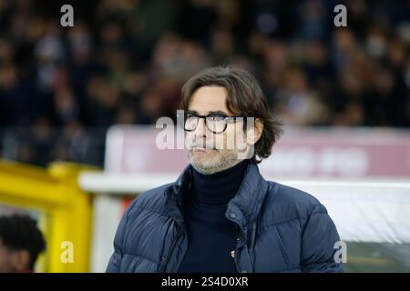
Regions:
[[[343,271],[325,207],[259,173],[282,129],[254,77],[205,69],[183,85],[181,109],[190,165],[128,207],[107,271]]]

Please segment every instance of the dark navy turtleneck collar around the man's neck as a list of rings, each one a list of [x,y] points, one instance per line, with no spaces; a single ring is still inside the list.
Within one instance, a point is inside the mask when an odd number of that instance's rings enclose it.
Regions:
[[[226,205],[238,192],[249,160],[211,175],[200,174],[193,166],[191,199],[203,205]]]

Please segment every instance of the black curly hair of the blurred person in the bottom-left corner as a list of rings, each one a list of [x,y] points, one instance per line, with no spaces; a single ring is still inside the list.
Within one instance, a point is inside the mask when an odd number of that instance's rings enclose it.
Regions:
[[[36,220],[26,215],[0,216],[0,240],[10,251],[28,251],[28,267],[31,269],[36,264],[37,256],[46,249],[46,242],[36,226]]]

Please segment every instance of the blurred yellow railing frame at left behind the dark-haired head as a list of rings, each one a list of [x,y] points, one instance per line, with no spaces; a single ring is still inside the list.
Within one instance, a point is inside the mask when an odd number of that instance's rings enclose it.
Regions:
[[[92,196],[78,187],[77,176],[90,169],[95,168],[55,162],[45,169],[0,161],[0,204],[46,214],[46,263],[40,271],[89,270]],[[67,251],[72,260],[64,259]]]

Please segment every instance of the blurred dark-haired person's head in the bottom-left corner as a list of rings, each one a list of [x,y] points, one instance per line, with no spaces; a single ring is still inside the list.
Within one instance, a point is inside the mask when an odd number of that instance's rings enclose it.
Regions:
[[[0,272],[32,273],[46,242],[30,216],[0,217]]]

